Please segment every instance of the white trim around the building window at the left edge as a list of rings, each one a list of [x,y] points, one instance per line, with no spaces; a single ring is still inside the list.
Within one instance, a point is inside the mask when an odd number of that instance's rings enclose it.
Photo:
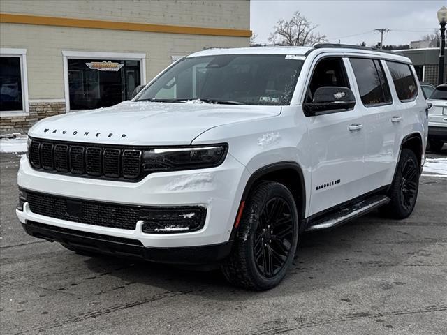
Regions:
[[[0,57],[18,57],[20,59],[20,79],[22,81],[22,110],[2,110],[0,117],[26,117],[29,115],[27,49],[1,47]]]

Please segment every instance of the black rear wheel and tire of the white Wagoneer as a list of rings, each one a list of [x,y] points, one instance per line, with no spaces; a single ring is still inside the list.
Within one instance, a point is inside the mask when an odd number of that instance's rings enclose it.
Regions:
[[[418,198],[419,163],[416,154],[409,149],[402,149],[393,184],[388,196],[391,201],[379,211],[388,218],[408,218]]]

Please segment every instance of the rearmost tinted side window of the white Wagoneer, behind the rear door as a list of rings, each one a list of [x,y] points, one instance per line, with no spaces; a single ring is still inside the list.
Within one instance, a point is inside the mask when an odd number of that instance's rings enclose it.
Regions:
[[[397,63],[395,61],[386,61],[390,69],[391,77],[396,88],[397,96],[400,101],[409,101],[416,98],[418,86],[414,80],[408,64]]]

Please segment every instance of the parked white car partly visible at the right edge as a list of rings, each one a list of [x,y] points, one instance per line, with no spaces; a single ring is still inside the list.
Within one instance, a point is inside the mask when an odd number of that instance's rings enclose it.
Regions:
[[[439,85],[427,99],[428,144],[430,150],[440,152],[447,143],[447,84]]]

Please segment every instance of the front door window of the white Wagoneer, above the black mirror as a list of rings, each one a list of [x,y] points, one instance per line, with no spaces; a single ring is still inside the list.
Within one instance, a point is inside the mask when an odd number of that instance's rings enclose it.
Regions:
[[[316,89],[324,86],[349,87],[346,69],[341,58],[325,58],[318,61],[307,90],[306,102],[312,101]]]

